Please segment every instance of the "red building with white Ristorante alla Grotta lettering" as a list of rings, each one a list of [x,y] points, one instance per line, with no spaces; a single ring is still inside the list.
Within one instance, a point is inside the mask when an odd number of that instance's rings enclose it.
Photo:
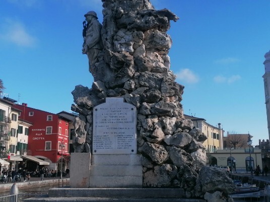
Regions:
[[[33,124],[29,128],[27,155],[49,162],[49,165],[45,165],[49,169],[60,170],[62,168],[65,170],[67,167],[65,159],[70,155],[70,120],[56,114],[30,108],[25,103],[16,105],[16,108],[22,111],[19,115],[20,119]],[[31,161],[31,159],[29,160]]]

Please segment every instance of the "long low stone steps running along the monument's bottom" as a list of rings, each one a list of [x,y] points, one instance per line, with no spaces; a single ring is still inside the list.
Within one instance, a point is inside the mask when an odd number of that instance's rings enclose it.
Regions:
[[[206,202],[204,199],[183,198],[182,188],[51,188],[48,197],[27,198],[28,202],[71,202],[71,201],[179,201],[179,202]]]

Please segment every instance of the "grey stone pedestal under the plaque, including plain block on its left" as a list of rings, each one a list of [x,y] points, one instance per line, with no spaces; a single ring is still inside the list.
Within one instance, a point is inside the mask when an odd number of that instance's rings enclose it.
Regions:
[[[143,166],[139,154],[72,153],[71,188],[143,187]]]

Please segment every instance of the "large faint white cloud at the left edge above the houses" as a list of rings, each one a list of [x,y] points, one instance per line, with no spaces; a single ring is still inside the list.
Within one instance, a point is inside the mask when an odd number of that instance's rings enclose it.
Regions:
[[[36,44],[37,39],[27,32],[22,23],[6,19],[1,30],[0,40],[5,40],[18,46],[25,47],[33,47]]]

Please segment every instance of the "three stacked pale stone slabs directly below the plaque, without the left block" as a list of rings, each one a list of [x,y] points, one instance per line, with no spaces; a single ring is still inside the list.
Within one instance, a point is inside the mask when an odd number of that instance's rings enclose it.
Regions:
[[[92,155],[90,187],[143,187],[143,166],[138,154]]]

